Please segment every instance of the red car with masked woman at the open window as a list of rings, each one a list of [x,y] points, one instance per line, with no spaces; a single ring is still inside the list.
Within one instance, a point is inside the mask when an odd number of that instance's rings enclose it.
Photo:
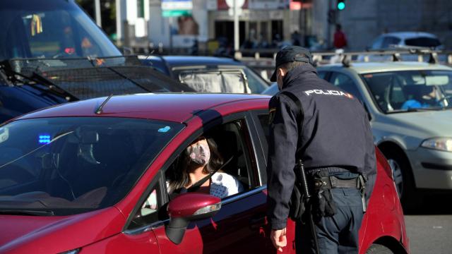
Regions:
[[[266,222],[265,95],[153,94],[89,99],[0,126],[0,253],[275,253]],[[243,190],[220,200],[167,179],[199,135]],[[359,253],[409,253],[391,168],[378,179]],[[295,224],[285,253],[295,253]],[[388,253],[388,252],[385,252]]]

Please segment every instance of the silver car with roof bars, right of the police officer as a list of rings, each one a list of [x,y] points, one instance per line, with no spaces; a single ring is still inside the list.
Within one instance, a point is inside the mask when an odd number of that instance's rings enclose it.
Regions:
[[[405,209],[418,207],[424,194],[452,191],[452,68],[381,62],[332,64],[317,70],[321,78],[364,104],[374,142],[393,169]],[[278,86],[273,85],[264,93],[276,92]],[[426,99],[432,92],[436,99]],[[422,104],[409,107],[415,99]]]

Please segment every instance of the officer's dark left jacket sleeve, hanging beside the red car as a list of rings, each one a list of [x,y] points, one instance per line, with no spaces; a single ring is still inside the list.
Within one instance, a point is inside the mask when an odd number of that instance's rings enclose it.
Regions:
[[[295,183],[295,152],[301,112],[291,99],[275,95],[270,99],[268,144],[268,219],[272,229],[283,229],[289,216],[289,201]]]

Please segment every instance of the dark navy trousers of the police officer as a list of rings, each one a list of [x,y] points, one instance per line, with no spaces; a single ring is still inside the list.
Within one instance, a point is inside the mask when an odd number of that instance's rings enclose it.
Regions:
[[[356,188],[333,188],[331,192],[336,213],[316,223],[320,253],[358,253],[358,231],[364,216],[361,194]],[[297,253],[316,253],[307,219],[296,225],[295,246]]]

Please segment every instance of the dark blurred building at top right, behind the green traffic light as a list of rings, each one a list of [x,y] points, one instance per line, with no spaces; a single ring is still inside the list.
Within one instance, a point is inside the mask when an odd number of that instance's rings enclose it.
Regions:
[[[345,0],[336,13],[352,50],[365,49],[383,32],[430,32],[452,48],[451,0]]]

